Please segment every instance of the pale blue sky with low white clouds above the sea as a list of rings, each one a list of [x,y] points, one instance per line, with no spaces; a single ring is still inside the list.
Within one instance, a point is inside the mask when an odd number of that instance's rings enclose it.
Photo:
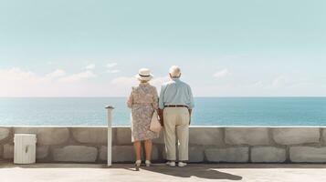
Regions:
[[[0,0],[0,96],[326,96],[326,1]]]

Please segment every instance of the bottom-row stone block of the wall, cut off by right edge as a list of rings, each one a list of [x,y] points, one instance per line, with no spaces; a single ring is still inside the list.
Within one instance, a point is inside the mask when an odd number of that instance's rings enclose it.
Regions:
[[[290,147],[289,159],[297,163],[325,163],[326,147]]]

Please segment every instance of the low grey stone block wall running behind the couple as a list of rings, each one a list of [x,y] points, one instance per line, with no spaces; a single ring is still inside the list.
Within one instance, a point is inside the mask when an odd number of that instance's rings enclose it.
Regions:
[[[106,163],[105,126],[0,127],[0,160],[12,161],[14,134],[37,134],[37,162]],[[190,162],[326,163],[326,128],[217,127],[190,128]],[[112,129],[112,162],[134,160],[129,127]],[[164,158],[163,133],[153,140],[152,160]]]

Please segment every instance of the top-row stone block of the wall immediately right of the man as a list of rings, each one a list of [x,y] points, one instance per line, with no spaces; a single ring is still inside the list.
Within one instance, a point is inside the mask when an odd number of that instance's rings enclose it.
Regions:
[[[224,146],[223,129],[217,127],[190,127],[189,143],[203,146]]]

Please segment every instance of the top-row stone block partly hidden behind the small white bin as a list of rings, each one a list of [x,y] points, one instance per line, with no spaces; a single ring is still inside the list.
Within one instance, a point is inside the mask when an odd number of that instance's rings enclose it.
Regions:
[[[68,141],[67,127],[15,127],[15,134],[37,134],[37,144],[42,146],[59,145]]]

